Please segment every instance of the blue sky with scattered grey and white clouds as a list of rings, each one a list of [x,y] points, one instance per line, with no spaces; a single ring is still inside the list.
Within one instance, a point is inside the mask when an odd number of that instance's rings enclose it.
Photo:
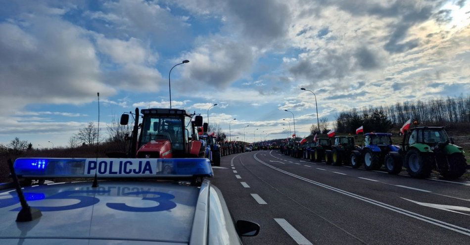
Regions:
[[[247,141],[353,107],[470,91],[466,0],[0,0],[0,143],[66,145],[135,107],[207,113]],[[285,121],[284,121],[285,122]],[[291,122],[292,123],[292,122]],[[293,131],[293,125],[291,125]],[[287,126],[288,128],[288,126]],[[103,130],[104,131],[104,130]],[[259,134],[256,136],[259,139]]]

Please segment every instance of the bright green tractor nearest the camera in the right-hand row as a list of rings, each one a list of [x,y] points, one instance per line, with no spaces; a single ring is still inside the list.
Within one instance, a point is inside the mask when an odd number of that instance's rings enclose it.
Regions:
[[[446,179],[457,179],[465,173],[467,161],[444,127],[422,126],[406,131],[401,149],[385,156],[388,173],[397,174],[402,166],[415,178],[427,178],[435,169]]]

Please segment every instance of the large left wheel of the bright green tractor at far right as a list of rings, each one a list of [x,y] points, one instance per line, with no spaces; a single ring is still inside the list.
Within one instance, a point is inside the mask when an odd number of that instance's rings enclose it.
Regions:
[[[431,174],[431,158],[416,149],[410,150],[405,157],[406,170],[411,177],[427,178]]]

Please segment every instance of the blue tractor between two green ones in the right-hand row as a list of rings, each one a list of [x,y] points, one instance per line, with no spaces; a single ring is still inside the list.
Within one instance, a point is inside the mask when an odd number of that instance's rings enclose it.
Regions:
[[[364,163],[367,170],[380,169],[389,152],[398,152],[399,146],[392,145],[391,133],[366,133],[364,146],[351,153],[351,166],[358,168]]]

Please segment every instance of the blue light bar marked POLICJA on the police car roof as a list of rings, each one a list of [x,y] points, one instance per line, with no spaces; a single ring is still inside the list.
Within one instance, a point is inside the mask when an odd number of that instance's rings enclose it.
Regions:
[[[18,158],[16,174],[23,177],[178,178],[212,177],[210,161],[205,158]]]

